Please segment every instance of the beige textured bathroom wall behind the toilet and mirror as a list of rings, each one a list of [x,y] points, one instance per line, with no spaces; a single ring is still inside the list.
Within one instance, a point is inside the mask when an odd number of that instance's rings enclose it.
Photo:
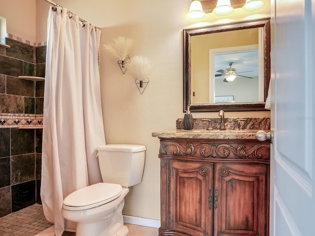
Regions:
[[[1,0],[2,2],[3,0]],[[13,0],[5,0],[13,1]],[[18,1],[18,0],[15,0]],[[26,0],[20,0],[20,2]],[[33,3],[34,0],[27,0]],[[57,1],[57,0],[56,0]],[[146,145],[143,180],[131,187],[126,196],[124,213],[143,218],[158,219],[159,206],[159,141],[151,137],[152,131],[174,130],[176,119],[183,118],[183,36],[185,28],[240,21],[270,16],[268,1],[259,14],[250,15],[236,9],[231,17],[207,14],[199,23],[185,19],[191,0],[58,0],[57,3],[102,30],[101,44],[113,37],[134,39],[132,55],[150,59],[150,83],[141,95],[128,71],[125,75],[102,48],[100,58],[102,108],[105,137],[108,144],[129,143]],[[50,4],[36,0],[36,42],[46,41],[47,12]],[[34,10],[30,11],[34,12]],[[1,13],[1,10],[0,10]],[[1,15],[1,14],[0,14]],[[12,18],[12,17],[9,17]],[[31,13],[18,16],[19,24]],[[28,20],[30,20],[28,19]],[[14,27],[8,29],[13,32]],[[15,29],[14,29],[15,30]],[[25,30],[16,34],[27,36]],[[217,117],[217,113],[194,113],[193,117]],[[268,117],[269,112],[234,112],[226,117]]]

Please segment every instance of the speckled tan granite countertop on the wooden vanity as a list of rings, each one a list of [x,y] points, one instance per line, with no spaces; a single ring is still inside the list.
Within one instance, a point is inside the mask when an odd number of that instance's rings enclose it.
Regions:
[[[253,139],[258,130],[184,130],[152,132],[153,137],[181,139]],[[269,130],[265,130],[269,132]]]

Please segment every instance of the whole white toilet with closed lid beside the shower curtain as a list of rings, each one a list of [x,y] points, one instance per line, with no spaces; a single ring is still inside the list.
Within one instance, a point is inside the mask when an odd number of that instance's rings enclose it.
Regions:
[[[77,223],[76,236],[126,236],[122,210],[130,186],[141,182],[146,147],[109,144],[97,148],[103,179],[63,200],[63,217]]]

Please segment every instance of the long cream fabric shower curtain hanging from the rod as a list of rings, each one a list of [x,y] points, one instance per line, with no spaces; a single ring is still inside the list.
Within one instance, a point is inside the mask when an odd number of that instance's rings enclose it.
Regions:
[[[101,182],[96,148],[105,144],[100,99],[100,30],[49,10],[47,26],[41,200],[55,235],[74,230],[62,216],[63,199]]]

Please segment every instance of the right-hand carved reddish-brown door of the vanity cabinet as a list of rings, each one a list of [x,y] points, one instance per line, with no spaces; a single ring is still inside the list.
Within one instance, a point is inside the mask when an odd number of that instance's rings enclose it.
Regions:
[[[214,236],[266,236],[268,165],[215,166]]]

